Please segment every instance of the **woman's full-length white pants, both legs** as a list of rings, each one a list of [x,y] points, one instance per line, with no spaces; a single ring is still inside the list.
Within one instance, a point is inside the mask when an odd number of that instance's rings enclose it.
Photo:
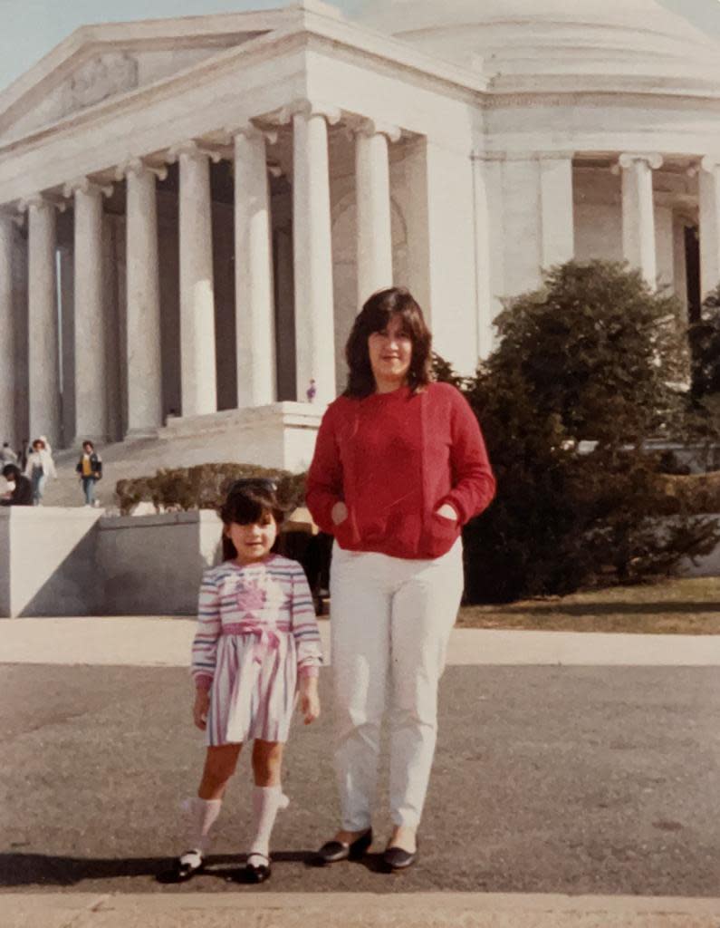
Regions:
[[[370,826],[386,701],[392,822],[418,827],[435,752],[438,681],[462,589],[459,538],[432,561],[333,547],[330,635],[343,829]]]

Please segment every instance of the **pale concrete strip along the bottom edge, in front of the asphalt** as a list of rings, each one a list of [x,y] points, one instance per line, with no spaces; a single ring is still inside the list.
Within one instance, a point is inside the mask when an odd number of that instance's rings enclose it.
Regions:
[[[482,893],[0,897],[3,928],[717,928],[720,900]]]

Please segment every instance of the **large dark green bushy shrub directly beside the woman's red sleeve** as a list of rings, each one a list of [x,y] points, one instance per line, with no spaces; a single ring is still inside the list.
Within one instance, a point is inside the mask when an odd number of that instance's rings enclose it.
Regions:
[[[682,496],[659,521],[660,456],[642,450],[683,425],[678,316],[639,274],[594,261],[553,268],[498,317],[501,342],[462,384],[498,479],[465,532],[471,601],[636,582],[714,547]]]

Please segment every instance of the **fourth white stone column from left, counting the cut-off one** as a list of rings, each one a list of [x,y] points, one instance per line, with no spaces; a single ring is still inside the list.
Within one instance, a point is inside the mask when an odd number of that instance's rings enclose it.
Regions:
[[[153,435],[162,425],[162,356],[158,204],[156,174],[134,159],[118,177],[127,178],[127,429],[131,437]]]

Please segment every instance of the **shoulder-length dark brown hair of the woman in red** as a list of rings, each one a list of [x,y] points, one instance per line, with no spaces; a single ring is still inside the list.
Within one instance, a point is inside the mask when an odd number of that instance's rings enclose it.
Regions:
[[[345,396],[358,399],[375,393],[375,377],[370,367],[367,339],[373,332],[386,329],[392,316],[403,320],[403,328],[413,344],[407,383],[413,393],[427,387],[431,380],[431,331],[415,298],[405,287],[378,290],[366,301],[355,317],[353,330],[345,345],[345,358],[350,368]]]

